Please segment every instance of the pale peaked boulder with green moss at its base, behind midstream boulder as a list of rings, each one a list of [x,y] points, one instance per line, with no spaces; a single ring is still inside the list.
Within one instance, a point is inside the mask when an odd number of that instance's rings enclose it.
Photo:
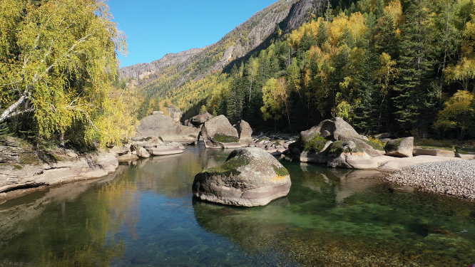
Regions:
[[[201,127],[200,135],[207,148],[238,148],[239,135],[224,115],[213,117]]]

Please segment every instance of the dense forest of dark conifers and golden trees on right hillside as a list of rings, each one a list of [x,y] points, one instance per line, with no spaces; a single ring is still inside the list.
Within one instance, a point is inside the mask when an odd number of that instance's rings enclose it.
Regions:
[[[337,115],[370,134],[473,137],[474,19],[473,0],[340,1],[230,73],[158,100],[280,130]]]

